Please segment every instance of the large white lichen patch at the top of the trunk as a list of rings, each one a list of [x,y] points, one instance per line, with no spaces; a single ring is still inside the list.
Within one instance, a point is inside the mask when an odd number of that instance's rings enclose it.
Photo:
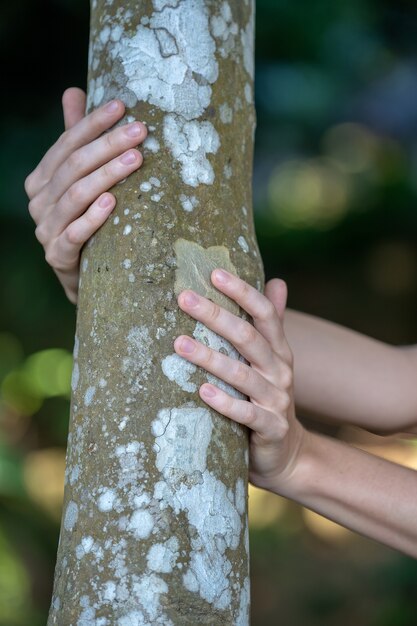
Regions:
[[[215,49],[200,2],[164,5],[148,24],[142,20],[132,36],[108,48],[137,100],[186,119],[199,117],[210,103],[210,84],[218,76]]]

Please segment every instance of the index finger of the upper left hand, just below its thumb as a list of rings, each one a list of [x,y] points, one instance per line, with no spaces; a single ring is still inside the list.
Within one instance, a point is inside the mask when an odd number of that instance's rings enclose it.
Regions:
[[[30,195],[39,193],[72,152],[97,139],[105,130],[111,128],[122,117],[124,110],[123,102],[112,100],[65,131],[28,177]]]

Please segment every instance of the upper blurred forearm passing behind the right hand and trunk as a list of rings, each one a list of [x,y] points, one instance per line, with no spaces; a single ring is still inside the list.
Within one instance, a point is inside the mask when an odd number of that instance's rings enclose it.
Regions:
[[[415,370],[404,350],[287,310],[300,414],[400,432],[417,422]]]

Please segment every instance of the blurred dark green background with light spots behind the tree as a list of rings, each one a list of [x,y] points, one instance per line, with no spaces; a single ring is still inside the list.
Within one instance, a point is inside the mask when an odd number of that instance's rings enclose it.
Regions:
[[[45,624],[75,309],[34,237],[25,176],[85,86],[87,0],[2,3],[0,626]],[[291,307],[417,342],[417,8],[258,0],[254,201]],[[318,426],[319,428],[323,428]],[[326,432],[417,468],[411,440]],[[415,494],[410,494],[410,498]],[[417,565],[251,490],[253,624],[417,623]]]

